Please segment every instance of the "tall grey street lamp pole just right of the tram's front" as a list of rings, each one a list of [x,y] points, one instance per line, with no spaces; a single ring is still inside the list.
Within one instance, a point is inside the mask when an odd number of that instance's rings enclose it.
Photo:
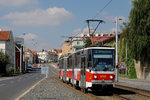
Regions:
[[[116,82],[118,82],[118,76],[119,76],[119,69],[118,69],[118,20],[122,20],[121,18],[118,18],[118,16],[116,16]]]

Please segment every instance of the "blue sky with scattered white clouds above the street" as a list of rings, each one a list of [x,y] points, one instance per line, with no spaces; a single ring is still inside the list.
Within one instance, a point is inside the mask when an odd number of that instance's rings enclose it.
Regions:
[[[0,0],[0,29],[24,38],[25,47],[31,50],[61,49],[68,37],[87,33],[88,19],[105,22],[98,33],[114,32],[116,16],[122,19],[119,26],[128,21],[131,1]],[[93,29],[97,23],[90,25]]]

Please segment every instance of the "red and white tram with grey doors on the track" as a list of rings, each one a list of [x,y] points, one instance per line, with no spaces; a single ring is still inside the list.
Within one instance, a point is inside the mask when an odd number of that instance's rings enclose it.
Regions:
[[[59,60],[59,78],[84,91],[112,88],[115,83],[114,62],[114,48],[84,48]]]

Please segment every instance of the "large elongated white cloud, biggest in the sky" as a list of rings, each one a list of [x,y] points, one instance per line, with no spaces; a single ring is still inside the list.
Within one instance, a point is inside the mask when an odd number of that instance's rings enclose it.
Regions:
[[[73,18],[73,14],[64,8],[36,9],[31,12],[15,12],[3,16],[16,26],[56,26]]]

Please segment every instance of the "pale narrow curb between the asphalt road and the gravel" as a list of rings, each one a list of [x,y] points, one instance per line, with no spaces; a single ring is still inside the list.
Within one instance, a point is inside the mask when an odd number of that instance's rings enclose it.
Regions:
[[[40,81],[38,81],[36,84],[31,86],[28,90],[26,90],[24,93],[22,93],[19,97],[17,97],[15,100],[20,100],[22,97],[24,97],[28,92],[30,92],[32,89],[34,89],[37,85],[39,85],[46,77],[42,78]]]

